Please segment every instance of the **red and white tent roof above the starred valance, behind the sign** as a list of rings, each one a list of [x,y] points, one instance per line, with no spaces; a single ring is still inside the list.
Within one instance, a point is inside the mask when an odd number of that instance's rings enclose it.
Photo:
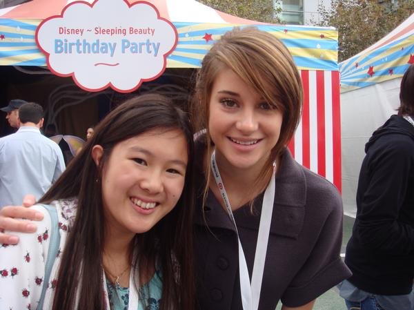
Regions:
[[[125,0],[132,4],[139,0]],[[205,6],[195,0],[145,0],[154,4],[161,17],[169,21],[186,21],[197,23],[242,23],[258,24],[258,21],[250,21],[220,12],[209,6]],[[75,0],[32,0],[19,6],[12,6],[0,10],[0,18],[8,19],[46,19],[53,15],[60,15],[62,9]],[[93,3],[94,0],[83,0]]]

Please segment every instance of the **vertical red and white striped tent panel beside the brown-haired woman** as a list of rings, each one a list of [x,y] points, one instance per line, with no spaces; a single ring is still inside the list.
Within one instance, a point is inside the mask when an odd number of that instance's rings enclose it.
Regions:
[[[300,70],[302,120],[290,141],[295,160],[342,188],[339,72]]]

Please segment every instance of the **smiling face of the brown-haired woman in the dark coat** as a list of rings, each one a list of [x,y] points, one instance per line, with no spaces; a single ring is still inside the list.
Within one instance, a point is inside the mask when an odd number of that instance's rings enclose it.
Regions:
[[[279,139],[282,112],[229,68],[215,78],[209,109],[217,155],[235,168],[261,169]]]

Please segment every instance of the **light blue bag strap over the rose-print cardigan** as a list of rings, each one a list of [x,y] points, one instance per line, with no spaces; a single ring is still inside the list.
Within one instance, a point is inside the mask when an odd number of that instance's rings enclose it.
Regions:
[[[43,279],[43,289],[41,291],[41,296],[39,300],[39,304],[37,304],[37,310],[43,309],[43,302],[46,296],[46,290],[48,289],[50,273],[52,272],[53,264],[55,263],[55,259],[57,257],[57,251],[59,251],[59,244],[60,244],[60,235],[59,235],[59,220],[57,218],[57,211],[55,206],[50,206],[48,204],[41,204],[49,213],[50,215],[50,223],[51,231],[50,231],[50,243],[49,243],[49,251],[48,251],[48,258],[46,259],[45,265],[45,278]]]

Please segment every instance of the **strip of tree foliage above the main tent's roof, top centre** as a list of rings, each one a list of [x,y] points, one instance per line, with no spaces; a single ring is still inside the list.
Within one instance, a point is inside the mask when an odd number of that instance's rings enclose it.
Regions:
[[[264,23],[277,23],[278,10],[273,8],[271,0],[198,0],[221,12]]]

